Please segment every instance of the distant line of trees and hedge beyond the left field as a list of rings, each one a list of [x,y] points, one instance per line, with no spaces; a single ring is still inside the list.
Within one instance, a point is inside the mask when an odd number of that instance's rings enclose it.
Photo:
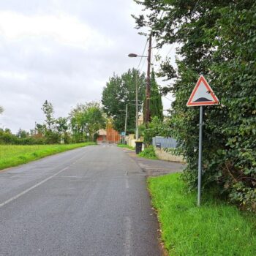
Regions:
[[[96,140],[97,131],[105,128],[105,114],[98,102],[78,104],[69,116],[55,118],[53,104],[45,100],[42,111],[45,121],[29,132],[19,129],[17,134],[12,134],[8,128],[0,129],[0,144],[80,143]]]

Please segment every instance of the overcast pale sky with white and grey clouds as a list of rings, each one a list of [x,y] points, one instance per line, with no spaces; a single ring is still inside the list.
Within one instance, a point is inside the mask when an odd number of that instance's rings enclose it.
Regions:
[[[138,67],[127,54],[141,54],[146,43],[131,17],[140,9],[132,0],[0,0],[0,127],[33,129],[44,120],[46,99],[56,118],[78,103],[100,102],[113,72]],[[174,59],[171,45],[159,53],[169,51]]]

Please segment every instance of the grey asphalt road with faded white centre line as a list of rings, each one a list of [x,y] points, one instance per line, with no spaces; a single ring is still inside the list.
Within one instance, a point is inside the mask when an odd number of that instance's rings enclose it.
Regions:
[[[0,173],[0,255],[161,255],[145,173],[89,146]]]

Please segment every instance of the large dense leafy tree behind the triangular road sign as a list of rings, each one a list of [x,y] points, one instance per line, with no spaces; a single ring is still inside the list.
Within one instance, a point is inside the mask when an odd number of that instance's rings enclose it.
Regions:
[[[160,73],[176,78],[165,91],[176,98],[170,120],[187,161],[184,178],[196,186],[199,110],[186,103],[203,73],[221,100],[204,108],[203,187],[256,211],[255,1],[136,2],[148,13],[135,17],[138,28],[148,26],[159,48],[179,45],[178,70],[166,59]]]

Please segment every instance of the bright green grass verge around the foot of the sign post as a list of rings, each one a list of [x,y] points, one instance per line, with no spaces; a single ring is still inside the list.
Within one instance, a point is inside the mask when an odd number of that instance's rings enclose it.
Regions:
[[[180,174],[148,178],[162,240],[170,255],[255,256],[256,216],[235,206],[188,193]]]

